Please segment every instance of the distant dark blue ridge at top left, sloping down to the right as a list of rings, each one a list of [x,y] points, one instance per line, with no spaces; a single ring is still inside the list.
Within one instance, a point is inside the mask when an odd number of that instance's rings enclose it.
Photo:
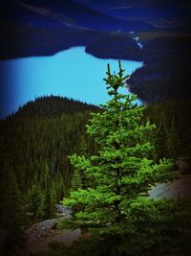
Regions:
[[[61,27],[63,24],[70,28],[98,31],[152,30],[152,26],[144,22],[118,19],[70,0],[46,2],[15,0],[1,12],[0,17],[27,26]]]

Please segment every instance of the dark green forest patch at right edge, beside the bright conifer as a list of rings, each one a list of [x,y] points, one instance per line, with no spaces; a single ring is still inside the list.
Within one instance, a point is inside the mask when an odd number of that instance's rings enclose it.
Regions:
[[[169,101],[147,105],[145,118],[157,125],[154,132],[157,157],[190,157],[190,101]]]

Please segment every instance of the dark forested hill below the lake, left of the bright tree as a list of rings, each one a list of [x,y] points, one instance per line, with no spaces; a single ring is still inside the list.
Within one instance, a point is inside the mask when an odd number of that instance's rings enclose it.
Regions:
[[[97,109],[53,96],[28,103],[0,122],[1,167],[11,164],[21,191],[28,191],[33,182],[45,188],[45,175],[50,175],[61,182],[63,193],[71,175],[67,155],[77,151],[89,112]]]

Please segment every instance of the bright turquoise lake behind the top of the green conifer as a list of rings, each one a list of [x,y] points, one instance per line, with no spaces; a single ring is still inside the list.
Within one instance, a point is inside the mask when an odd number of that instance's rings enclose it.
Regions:
[[[60,95],[99,105],[109,100],[103,78],[107,63],[118,70],[117,60],[95,58],[84,47],[74,47],[51,57],[15,58],[0,61],[0,118],[38,96]],[[121,61],[130,75],[142,65]],[[123,89],[128,93],[128,89]]]

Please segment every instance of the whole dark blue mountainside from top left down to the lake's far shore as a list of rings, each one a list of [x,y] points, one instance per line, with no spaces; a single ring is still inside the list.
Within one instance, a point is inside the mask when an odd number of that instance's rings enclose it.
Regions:
[[[122,31],[128,37],[131,31],[153,30],[146,23],[122,20],[70,0],[4,2],[0,26],[1,59],[53,55],[70,47],[87,46],[113,32]],[[115,39],[120,45],[120,38]]]

